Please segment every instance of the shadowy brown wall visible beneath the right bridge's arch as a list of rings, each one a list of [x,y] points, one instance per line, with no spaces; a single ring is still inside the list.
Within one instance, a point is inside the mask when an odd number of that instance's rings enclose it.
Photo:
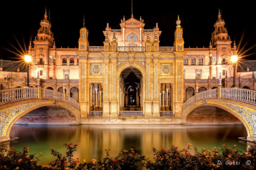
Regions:
[[[242,122],[233,116],[233,114],[211,105],[203,105],[194,109],[186,117],[186,123],[192,124],[222,124],[222,125],[232,125],[232,124],[242,124]]]

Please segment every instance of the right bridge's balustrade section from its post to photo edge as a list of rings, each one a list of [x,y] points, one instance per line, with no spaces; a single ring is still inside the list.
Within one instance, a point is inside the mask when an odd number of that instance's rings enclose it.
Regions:
[[[235,89],[235,88],[221,88],[221,98],[228,100],[236,100],[240,102],[255,104],[255,90],[250,89]]]

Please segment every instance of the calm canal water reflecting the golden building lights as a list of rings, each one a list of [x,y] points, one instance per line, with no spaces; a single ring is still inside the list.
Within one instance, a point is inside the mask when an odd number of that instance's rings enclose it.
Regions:
[[[199,150],[211,150],[225,144],[244,150],[251,144],[238,139],[247,136],[243,125],[14,125],[10,136],[19,137],[7,143],[10,148],[21,150],[27,146],[29,154],[42,152],[39,163],[44,165],[55,159],[50,148],[65,154],[65,143],[78,144],[74,157],[80,160],[102,160],[105,149],[115,157],[133,148],[152,159],[152,147],[169,149],[175,145],[183,149],[191,143]]]

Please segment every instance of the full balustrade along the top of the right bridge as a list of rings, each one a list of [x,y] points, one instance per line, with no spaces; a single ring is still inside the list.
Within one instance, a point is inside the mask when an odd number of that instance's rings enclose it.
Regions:
[[[256,90],[240,88],[218,88],[203,91],[188,99],[182,106],[186,109],[191,103],[205,99],[226,99],[256,105]]]

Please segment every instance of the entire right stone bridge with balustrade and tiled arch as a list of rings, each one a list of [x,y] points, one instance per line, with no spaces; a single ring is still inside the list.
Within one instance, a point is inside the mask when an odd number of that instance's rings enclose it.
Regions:
[[[202,105],[212,105],[224,109],[237,117],[245,126],[250,140],[256,140],[256,90],[222,88],[196,93],[182,106],[182,123],[195,108]]]

